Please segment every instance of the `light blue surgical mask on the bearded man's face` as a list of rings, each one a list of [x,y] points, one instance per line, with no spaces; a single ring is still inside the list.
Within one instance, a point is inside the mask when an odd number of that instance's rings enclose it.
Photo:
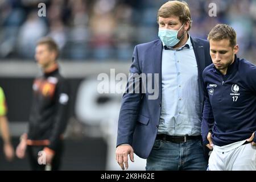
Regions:
[[[184,25],[184,23],[183,23]],[[183,25],[180,27],[180,29],[183,27]],[[177,34],[180,31],[179,30],[170,30],[166,28],[159,28],[158,36],[162,40],[164,46],[170,46],[173,47],[177,43],[180,42],[180,40],[177,38]]]

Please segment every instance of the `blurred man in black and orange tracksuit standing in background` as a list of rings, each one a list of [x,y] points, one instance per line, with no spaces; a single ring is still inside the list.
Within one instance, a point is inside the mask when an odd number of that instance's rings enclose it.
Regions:
[[[27,149],[32,170],[60,168],[63,155],[63,133],[67,126],[69,88],[59,73],[57,57],[59,49],[51,38],[42,38],[36,46],[35,59],[43,75],[33,84],[34,100],[28,125],[28,133],[20,137],[16,148],[18,158],[24,158]],[[40,151],[46,154],[46,165],[39,164]]]

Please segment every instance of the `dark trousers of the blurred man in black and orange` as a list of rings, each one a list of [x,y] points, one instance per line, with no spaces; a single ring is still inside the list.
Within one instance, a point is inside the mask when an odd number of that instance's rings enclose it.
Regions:
[[[44,171],[46,170],[46,165],[38,163],[38,152],[43,151],[44,147],[46,146],[27,146],[27,154],[28,160],[30,162],[31,170],[32,171]],[[63,155],[63,142],[57,146],[55,150],[55,155],[53,156],[52,163],[51,163],[51,170],[58,171],[60,169],[61,164],[61,157]]]

